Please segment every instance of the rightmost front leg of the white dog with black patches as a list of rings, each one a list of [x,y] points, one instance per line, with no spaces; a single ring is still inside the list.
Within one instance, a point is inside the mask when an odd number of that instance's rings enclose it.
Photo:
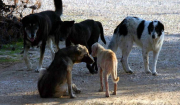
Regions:
[[[153,51],[153,70],[152,70],[152,75],[156,76],[156,64],[159,56],[159,51]]]

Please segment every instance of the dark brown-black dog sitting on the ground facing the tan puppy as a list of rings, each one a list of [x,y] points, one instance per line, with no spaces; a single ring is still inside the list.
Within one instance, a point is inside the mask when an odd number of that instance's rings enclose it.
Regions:
[[[71,70],[74,63],[86,62],[93,63],[88,49],[83,45],[70,46],[60,49],[55,53],[55,58],[47,70],[40,71],[38,81],[38,90],[42,98],[61,97],[66,92],[68,84],[68,92],[71,98],[75,92],[80,92],[75,85],[72,86]]]

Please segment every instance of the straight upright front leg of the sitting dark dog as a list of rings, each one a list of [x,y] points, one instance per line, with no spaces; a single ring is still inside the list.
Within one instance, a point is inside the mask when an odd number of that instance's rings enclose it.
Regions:
[[[72,92],[72,82],[71,81],[72,81],[71,70],[68,70],[68,73],[67,73],[68,92],[69,92],[70,98],[75,98],[76,96]]]

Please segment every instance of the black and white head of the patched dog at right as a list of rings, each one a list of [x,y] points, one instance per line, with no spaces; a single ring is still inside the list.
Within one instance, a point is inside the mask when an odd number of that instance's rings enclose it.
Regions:
[[[152,21],[148,26],[149,35],[152,39],[157,39],[164,32],[164,25],[159,21]]]

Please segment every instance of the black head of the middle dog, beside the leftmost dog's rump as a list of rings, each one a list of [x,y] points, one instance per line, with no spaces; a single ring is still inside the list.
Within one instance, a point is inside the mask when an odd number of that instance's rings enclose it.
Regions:
[[[71,33],[71,29],[74,25],[74,21],[60,21],[58,24],[58,28],[56,30],[56,34],[59,35],[59,40],[64,41]]]

